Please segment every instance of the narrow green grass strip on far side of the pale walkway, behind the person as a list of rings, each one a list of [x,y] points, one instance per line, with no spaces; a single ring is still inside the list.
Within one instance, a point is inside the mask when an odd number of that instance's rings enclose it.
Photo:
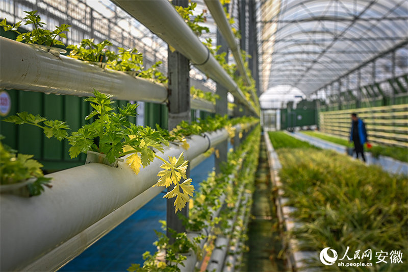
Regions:
[[[335,136],[330,136],[327,134],[323,134],[321,132],[316,132],[316,131],[302,131],[302,133],[320,138],[329,142],[334,142],[337,144],[341,144],[344,146],[353,146],[352,143],[349,143],[347,140],[338,138]],[[386,145],[373,145],[371,149],[367,149],[367,147],[364,147],[364,151],[366,152],[371,152],[371,154],[378,158],[379,155],[382,156],[387,156],[391,157],[393,159],[402,161],[402,162],[408,162],[408,149],[404,147],[398,147],[398,146],[386,146]]]

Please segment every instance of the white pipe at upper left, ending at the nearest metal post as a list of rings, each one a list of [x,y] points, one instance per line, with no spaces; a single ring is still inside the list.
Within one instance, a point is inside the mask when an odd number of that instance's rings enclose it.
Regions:
[[[88,62],[54,56],[33,46],[0,37],[0,87],[89,96],[93,89],[119,100],[163,103],[167,87]]]

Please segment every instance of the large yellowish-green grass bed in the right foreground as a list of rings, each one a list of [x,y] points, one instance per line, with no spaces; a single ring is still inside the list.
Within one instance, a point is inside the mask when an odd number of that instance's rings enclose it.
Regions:
[[[279,149],[283,168],[280,173],[288,206],[295,207],[293,218],[302,222],[291,235],[302,250],[319,253],[330,247],[342,258],[372,250],[372,267],[324,266],[316,254],[311,267],[330,271],[407,271],[408,270],[408,179],[390,175],[377,166],[351,161],[333,151]],[[375,263],[375,253],[402,252],[402,264]],[[344,261],[344,260],[343,260]]]

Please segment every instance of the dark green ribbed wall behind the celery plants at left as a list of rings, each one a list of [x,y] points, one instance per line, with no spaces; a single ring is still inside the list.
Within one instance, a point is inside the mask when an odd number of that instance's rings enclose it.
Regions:
[[[85,162],[85,155],[70,159],[67,140],[60,142],[57,139],[47,139],[40,128],[15,126],[2,121],[17,112],[27,111],[48,119],[66,120],[71,130],[75,131],[85,124],[85,117],[92,111],[82,97],[21,90],[5,90],[5,92],[10,95],[11,109],[7,115],[0,116],[0,121],[2,135],[6,137],[4,142],[7,145],[22,154],[33,154],[34,158],[44,165],[46,172],[78,166]],[[127,101],[117,101],[118,106],[126,103]],[[130,121],[136,124],[136,117],[130,117]]]

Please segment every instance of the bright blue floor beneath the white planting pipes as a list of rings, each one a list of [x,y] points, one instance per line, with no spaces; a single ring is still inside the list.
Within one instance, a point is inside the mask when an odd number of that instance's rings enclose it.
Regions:
[[[196,189],[214,164],[212,155],[191,170]],[[156,251],[152,243],[157,236],[153,230],[160,230],[159,220],[165,219],[166,200],[160,193],[59,271],[126,271],[132,263],[143,264],[142,254]]]

